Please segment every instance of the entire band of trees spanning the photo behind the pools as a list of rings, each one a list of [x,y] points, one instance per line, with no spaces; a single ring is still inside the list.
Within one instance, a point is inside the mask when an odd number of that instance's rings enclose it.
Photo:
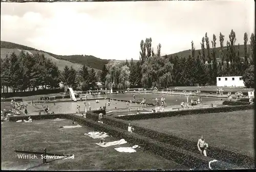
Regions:
[[[243,76],[247,87],[254,87],[254,56],[255,36],[251,34],[249,48],[248,35],[244,33],[244,58],[240,58],[240,45],[236,48],[236,33],[231,30],[226,47],[224,35],[220,33],[220,55],[217,58],[216,40],[205,33],[201,40],[201,50],[196,55],[194,42],[191,41],[190,55],[185,57],[161,56],[161,44],[157,51],[152,47],[152,39],[146,38],[140,42],[139,60],[111,60],[96,73],[84,64],[79,71],[72,66],[65,66],[60,71],[55,63],[44,54],[12,53],[1,59],[1,86],[10,87],[13,92],[56,89],[62,85],[72,85],[74,89],[96,89],[97,82],[109,88],[125,89],[132,87],[169,87],[214,85],[216,77]],[[211,47],[211,48],[210,48]],[[247,50],[248,49],[248,50]]]

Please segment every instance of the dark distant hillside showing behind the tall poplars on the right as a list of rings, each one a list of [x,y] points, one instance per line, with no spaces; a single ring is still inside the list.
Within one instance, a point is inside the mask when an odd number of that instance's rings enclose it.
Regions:
[[[227,47],[225,46],[225,47],[223,47],[224,48],[224,55],[225,54],[227,54]],[[235,48],[236,48],[236,51],[238,51],[238,45],[236,45],[235,46]],[[250,50],[250,45],[247,45],[247,51],[248,51],[248,53],[249,53],[249,50]],[[198,55],[199,55],[199,52],[201,51],[201,49],[200,50],[196,50],[195,51],[195,57],[197,57]],[[220,58],[220,55],[221,55],[221,47],[216,47],[216,51],[217,51],[217,60]],[[210,53],[212,52],[212,48],[210,48]],[[205,58],[207,59],[207,53],[208,53],[208,51],[207,50],[205,50]],[[242,58],[242,57],[244,57],[244,45],[240,45],[240,47],[239,47],[239,53],[240,53],[240,57]],[[201,53],[202,54],[202,53]],[[181,58],[181,57],[185,57],[185,58],[187,58],[189,55],[191,55],[191,51],[190,50],[185,50],[185,51],[182,51],[182,52],[178,52],[178,53],[174,53],[174,54],[169,54],[169,55],[167,55],[167,57],[169,57],[169,56],[178,56],[179,58]]]

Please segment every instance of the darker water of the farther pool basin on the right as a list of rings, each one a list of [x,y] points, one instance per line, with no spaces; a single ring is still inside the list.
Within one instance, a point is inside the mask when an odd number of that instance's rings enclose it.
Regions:
[[[173,94],[152,94],[152,93],[124,93],[124,94],[108,94],[108,98],[112,99],[120,99],[125,101],[133,101],[133,95],[135,94],[135,101],[141,102],[142,99],[146,99],[147,103],[155,104],[155,99],[159,99],[159,103],[161,103],[161,97],[165,96],[167,105],[180,105],[182,101],[187,100],[187,97],[184,95],[173,95]],[[189,101],[191,99],[197,100],[199,96],[189,96]],[[202,97],[203,102],[212,102],[212,101],[221,101],[223,98],[217,97]]]

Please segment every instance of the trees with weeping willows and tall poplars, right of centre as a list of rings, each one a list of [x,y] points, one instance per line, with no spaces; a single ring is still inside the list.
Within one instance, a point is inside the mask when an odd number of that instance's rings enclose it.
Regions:
[[[155,53],[152,39],[146,38],[140,42],[140,59],[128,62],[110,61],[104,65],[101,81],[106,87],[115,83],[118,89],[129,87],[169,87],[169,86],[195,86],[216,85],[216,77],[242,76],[246,87],[254,87],[254,56],[255,36],[244,33],[244,50],[240,44],[236,46],[236,33],[231,30],[224,46],[225,36],[220,33],[220,48],[217,52],[217,36],[212,40],[205,33],[201,40],[201,50],[195,54],[194,42],[191,41],[190,55],[161,57],[161,44],[157,45]],[[250,48],[247,48],[248,45]],[[236,48],[237,47],[237,48]],[[248,49],[248,50],[247,50]],[[244,52],[241,58],[240,53]],[[217,57],[219,54],[219,57]]]

